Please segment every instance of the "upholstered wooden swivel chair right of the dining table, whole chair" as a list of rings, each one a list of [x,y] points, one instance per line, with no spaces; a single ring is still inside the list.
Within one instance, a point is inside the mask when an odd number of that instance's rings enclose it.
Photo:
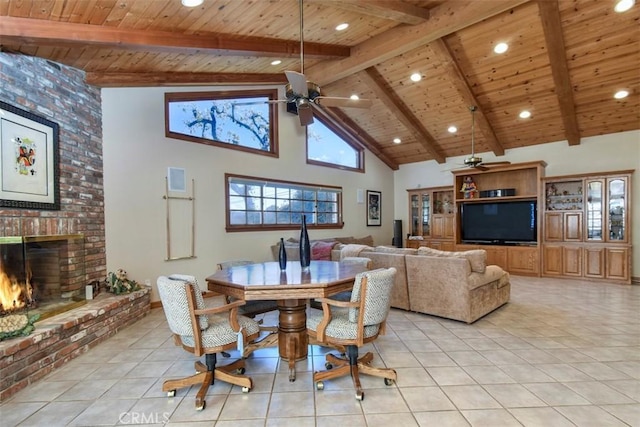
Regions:
[[[360,347],[385,333],[395,275],[396,269],[393,267],[359,273],[353,285],[350,301],[317,299],[322,304],[322,313],[309,314],[309,337],[323,345],[344,346],[346,349],[345,357],[327,354],[327,370],[314,372],[313,382],[317,390],[324,389],[325,380],[351,375],[356,389],[356,399],[363,400],[360,373],[384,378],[386,385],[392,385],[396,381],[395,370],[371,366],[371,352],[362,357],[358,355]],[[344,307],[347,310],[335,310],[332,307]]]

